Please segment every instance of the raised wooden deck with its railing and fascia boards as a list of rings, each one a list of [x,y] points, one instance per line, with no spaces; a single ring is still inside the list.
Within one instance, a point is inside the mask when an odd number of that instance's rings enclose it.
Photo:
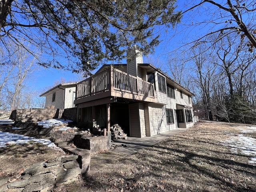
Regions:
[[[111,67],[79,82],[74,104],[110,96],[157,102],[154,84]]]

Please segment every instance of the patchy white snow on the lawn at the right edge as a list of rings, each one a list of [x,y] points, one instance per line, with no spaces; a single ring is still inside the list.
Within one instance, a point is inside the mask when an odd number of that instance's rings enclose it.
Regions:
[[[256,132],[256,127],[244,126],[238,127],[243,133]],[[250,157],[249,163],[256,166],[256,139],[243,134],[234,135],[224,142],[225,146],[229,146],[230,150],[236,154],[244,154]]]

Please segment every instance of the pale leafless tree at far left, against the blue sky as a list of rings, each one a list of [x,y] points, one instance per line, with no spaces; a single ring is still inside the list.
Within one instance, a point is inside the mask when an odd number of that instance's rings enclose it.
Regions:
[[[10,65],[0,66],[3,71],[0,82],[2,110],[14,110],[28,106],[34,96],[34,91],[27,83],[29,78],[33,78],[32,73],[36,70],[35,58],[26,49],[19,48],[15,44],[8,44],[8,46],[13,51],[12,57],[8,59]],[[4,56],[0,58],[2,60]]]

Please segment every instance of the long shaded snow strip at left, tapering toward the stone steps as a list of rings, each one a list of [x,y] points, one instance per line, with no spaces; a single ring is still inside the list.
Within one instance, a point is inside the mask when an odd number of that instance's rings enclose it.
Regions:
[[[62,151],[62,149],[57,147],[50,140],[36,139],[34,137],[28,137],[24,135],[0,131],[0,148],[6,147],[10,144],[26,144],[28,142],[39,142],[42,143],[43,145],[47,145],[48,147],[53,148],[54,150]]]

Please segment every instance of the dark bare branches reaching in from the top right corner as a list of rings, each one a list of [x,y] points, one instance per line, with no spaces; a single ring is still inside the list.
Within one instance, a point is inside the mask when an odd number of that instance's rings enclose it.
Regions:
[[[192,44],[209,42],[208,36],[215,34],[216,38],[211,42],[222,39],[223,34],[239,34],[241,38],[246,37],[251,52],[256,47],[256,2],[254,0],[224,0],[216,2],[213,0],[192,1],[188,8],[182,12],[183,16],[196,18],[188,27],[203,27],[206,31],[202,36],[196,38]],[[202,16],[203,14],[203,16]],[[200,15],[200,16],[199,16]]]

